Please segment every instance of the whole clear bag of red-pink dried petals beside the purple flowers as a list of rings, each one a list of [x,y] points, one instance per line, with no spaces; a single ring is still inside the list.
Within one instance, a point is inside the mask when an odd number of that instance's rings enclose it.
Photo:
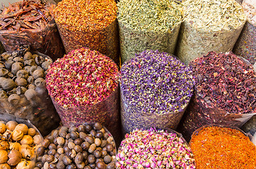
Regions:
[[[87,48],[71,51],[52,63],[46,77],[47,89],[63,125],[98,121],[118,135],[118,78],[114,61]]]

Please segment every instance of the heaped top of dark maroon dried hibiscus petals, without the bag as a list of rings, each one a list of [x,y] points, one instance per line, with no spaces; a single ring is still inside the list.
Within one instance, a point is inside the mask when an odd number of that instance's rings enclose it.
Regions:
[[[197,58],[190,65],[195,91],[228,113],[256,113],[256,73],[232,52]]]

